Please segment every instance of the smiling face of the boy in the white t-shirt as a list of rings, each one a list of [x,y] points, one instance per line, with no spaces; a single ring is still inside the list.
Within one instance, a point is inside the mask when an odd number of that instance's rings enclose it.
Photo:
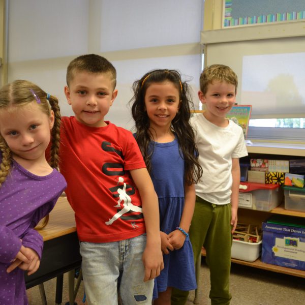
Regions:
[[[204,95],[198,93],[201,103],[205,104],[204,112],[210,121],[224,119],[235,104],[235,86],[225,81],[215,81],[207,85]]]

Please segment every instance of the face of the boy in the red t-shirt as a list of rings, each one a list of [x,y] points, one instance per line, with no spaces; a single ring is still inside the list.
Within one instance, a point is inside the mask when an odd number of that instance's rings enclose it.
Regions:
[[[106,126],[104,117],[117,95],[108,74],[76,72],[65,94],[76,119],[90,127]]]

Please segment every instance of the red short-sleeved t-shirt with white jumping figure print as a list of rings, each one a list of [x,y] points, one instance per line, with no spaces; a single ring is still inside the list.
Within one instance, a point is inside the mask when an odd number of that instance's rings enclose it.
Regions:
[[[60,172],[81,241],[111,242],[145,232],[141,198],[130,170],[144,168],[132,133],[106,122],[88,127],[62,118]]]

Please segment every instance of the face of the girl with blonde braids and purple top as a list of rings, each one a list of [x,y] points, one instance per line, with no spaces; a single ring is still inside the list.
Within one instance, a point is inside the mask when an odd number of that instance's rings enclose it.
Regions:
[[[10,147],[13,157],[24,160],[45,160],[53,124],[53,111],[49,117],[36,101],[0,111],[0,134]]]

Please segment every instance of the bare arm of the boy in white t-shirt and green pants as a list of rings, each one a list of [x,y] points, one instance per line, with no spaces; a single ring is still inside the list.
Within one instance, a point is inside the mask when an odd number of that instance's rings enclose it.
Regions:
[[[239,158],[232,158],[232,194],[231,194],[231,205],[232,205],[232,218],[231,225],[232,233],[235,231],[237,224],[237,209],[238,209],[238,193],[240,183],[240,167]]]

